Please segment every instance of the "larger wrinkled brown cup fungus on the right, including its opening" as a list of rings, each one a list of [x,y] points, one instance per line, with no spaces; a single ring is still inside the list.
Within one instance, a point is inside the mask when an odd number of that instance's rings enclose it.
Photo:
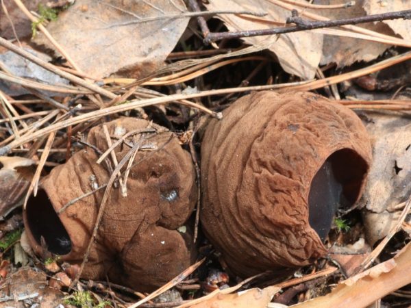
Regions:
[[[337,207],[360,197],[371,143],[347,107],[310,92],[258,92],[210,120],[201,222],[241,277],[310,264]]]

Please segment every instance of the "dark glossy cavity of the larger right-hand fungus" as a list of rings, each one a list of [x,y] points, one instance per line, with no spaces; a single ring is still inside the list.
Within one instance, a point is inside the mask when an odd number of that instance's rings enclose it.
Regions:
[[[330,155],[314,175],[308,194],[308,222],[322,241],[337,209],[348,209],[357,201],[367,170],[360,155],[343,149]]]

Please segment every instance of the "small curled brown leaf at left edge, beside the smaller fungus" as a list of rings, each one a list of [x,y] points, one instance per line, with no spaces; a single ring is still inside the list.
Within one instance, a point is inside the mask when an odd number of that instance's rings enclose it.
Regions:
[[[16,170],[34,164],[34,160],[18,156],[0,156],[0,220],[10,213],[29,187],[29,179]]]

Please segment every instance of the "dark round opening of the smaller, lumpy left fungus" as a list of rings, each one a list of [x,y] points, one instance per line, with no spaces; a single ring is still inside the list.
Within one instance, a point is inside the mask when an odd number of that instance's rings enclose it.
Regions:
[[[47,250],[55,255],[66,255],[71,251],[69,233],[55,213],[53,205],[44,190],[38,190],[37,196],[31,196],[27,202],[27,222],[34,239],[40,245],[43,237]]]

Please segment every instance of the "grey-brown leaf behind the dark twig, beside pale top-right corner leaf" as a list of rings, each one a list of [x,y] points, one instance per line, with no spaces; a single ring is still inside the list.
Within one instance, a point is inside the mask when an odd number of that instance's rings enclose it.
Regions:
[[[363,2],[364,0],[357,0],[356,5],[349,8],[334,10],[311,10],[311,12],[325,16],[332,20],[366,16],[366,12],[362,8]],[[347,0],[315,0],[314,3],[340,4],[347,3]],[[391,29],[383,23],[364,23],[359,26],[382,34],[393,35],[393,31],[391,31]],[[321,64],[335,62],[338,67],[343,67],[351,65],[356,61],[371,61],[381,55],[388,47],[390,47],[390,45],[370,42],[369,40],[347,38],[345,36],[325,35]]]

